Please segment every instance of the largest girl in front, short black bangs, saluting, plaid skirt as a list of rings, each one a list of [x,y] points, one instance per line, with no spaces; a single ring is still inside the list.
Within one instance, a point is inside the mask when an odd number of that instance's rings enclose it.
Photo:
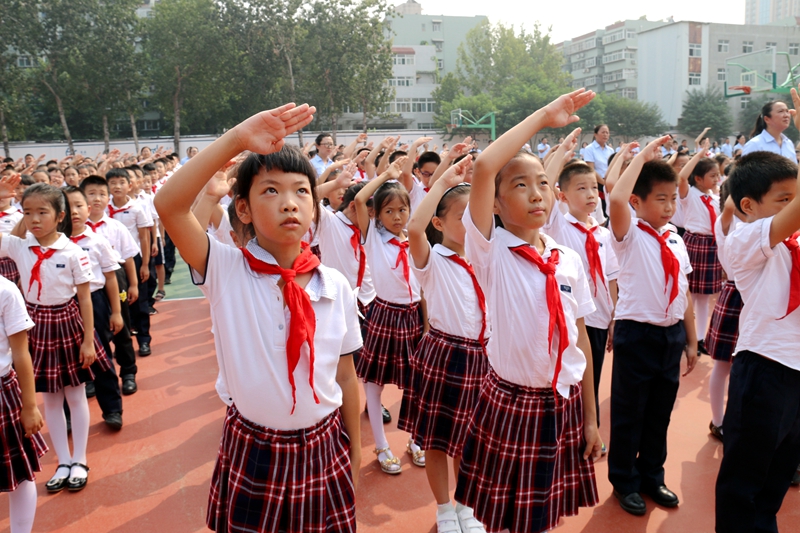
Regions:
[[[245,120],[155,198],[209,300],[233,398],[211,481],[206,522],[215,531],[356,529],[351,463],[360,464],[360,446],[347,436],[360,438],[355,295],[302,242],[317,217],[316,173],[284,147],[314,111],[287,104]],[[209,239],[191,208],[217,169],[245,150],[252,153],[239,167],[235,205],[255,238],[237,249]]]

